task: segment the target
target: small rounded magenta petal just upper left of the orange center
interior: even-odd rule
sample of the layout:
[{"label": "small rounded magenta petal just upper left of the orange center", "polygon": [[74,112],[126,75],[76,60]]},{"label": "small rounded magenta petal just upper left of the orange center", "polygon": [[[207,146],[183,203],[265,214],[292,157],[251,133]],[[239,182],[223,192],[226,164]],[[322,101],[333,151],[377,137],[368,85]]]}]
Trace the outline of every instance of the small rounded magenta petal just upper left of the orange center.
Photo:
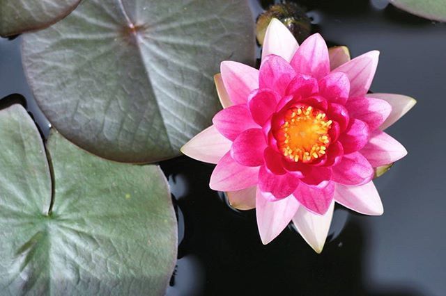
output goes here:
[{"label": "small rounded magenta petal just upper left of the orange center", "polygon": [[274,112],[280,97],[274,90],[254,90],[249,95],[248,106],[254,122],[263,126]]}]

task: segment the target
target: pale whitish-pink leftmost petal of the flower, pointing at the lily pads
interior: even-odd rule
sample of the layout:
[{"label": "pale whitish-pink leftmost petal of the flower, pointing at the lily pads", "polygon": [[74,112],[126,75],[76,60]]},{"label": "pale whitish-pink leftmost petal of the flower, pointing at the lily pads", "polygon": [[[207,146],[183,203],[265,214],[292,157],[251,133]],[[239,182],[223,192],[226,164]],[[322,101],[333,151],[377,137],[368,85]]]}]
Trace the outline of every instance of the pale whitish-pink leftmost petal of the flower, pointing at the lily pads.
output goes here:
[{"label": "pale whitish-pink leftmost petal of the flower, pointing at the lily pads", "polygon": [[231,141],[209,126],[181,147],[183,154],[205,163],[218,163],[231,149]]}]

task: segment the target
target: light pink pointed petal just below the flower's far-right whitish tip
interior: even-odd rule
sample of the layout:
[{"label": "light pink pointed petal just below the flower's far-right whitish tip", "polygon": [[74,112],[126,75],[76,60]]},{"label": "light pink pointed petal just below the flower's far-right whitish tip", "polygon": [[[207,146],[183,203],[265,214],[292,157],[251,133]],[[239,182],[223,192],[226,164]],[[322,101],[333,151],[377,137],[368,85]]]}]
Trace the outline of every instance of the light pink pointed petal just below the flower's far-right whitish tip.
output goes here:
[{"label": "light pink pointed petal just below the flower's far-right whitish tip", "polygon": [[376,130],[371,133],[367,145],[360,151],[372,167],[389,165],[406,156],[406,148],[397,140],[383,131]]}]

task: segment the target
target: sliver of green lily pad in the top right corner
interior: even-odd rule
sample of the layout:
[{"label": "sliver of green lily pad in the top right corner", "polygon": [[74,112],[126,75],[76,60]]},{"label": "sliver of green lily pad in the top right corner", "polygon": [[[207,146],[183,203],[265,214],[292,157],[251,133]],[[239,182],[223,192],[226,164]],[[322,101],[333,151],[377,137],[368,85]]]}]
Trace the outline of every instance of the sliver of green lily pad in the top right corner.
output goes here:
[{"label": "sliver of green lily pad in the top right corner", "polygon": [[445,0],[390,0],[390,3],[413,15],[446,22]]}]

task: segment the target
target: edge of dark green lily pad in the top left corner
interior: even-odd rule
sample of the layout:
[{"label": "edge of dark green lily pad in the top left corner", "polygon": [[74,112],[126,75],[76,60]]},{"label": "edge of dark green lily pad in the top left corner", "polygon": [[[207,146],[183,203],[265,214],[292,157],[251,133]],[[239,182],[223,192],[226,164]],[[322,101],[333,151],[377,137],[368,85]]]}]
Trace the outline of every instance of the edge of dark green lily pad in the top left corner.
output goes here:
[{"label": "edge of dark green lily pad in the top left corner", "polygon": [[46,28],[66,17],[81,0],[0,0],[0,36]]}]

